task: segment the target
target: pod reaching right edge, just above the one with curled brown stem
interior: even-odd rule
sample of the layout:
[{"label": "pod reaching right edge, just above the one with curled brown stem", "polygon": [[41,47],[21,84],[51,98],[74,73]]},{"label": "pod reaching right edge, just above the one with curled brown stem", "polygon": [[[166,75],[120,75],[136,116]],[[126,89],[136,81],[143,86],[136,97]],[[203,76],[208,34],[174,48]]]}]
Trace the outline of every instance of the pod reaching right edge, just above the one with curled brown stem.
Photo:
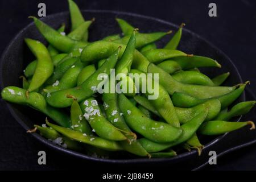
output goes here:
[{"label": "pod reaching right edge, just above the one with curled brown stem", "polygon": [[218,114],[214,120],[229,121],[230,118],[249,113],[255,103],[256,101],[240,102],[237,105],[234,105],[230,111]]}]

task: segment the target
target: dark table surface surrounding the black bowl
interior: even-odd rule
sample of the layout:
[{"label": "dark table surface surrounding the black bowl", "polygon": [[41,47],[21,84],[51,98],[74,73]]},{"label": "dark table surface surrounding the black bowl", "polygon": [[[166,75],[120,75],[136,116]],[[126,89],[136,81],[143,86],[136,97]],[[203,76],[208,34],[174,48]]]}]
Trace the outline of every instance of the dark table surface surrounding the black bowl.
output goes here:
[{"label": "dark table surface surrounding the black bowl", "polygon": [[[29,15],[37,15],[38,3],[44,2],[47,15],[68,11],[67,1],[0,1],[0,54],[18,31],[31,22]],[[130,0],[76,1],[81,9],[115,10],[154,16],[175,24],[186,23],[186,28],[203,36],[230,57],[243,81],[250,80],[249,89],[256,92],[256,2],[254,0],[214,1],[217,17],[208,16],[211,1]],[[247,97],[248,98],[248,97]],[[255,110],[254,110],[255,113]],[[250,113],[254,115],[255,114]],[[30,137],[0,101],[0,169],[43,170],[74,169],[77,159],[52,151]],[[47,165],[38,165],[38,151],[47,153]],[[230,152],[218,158],[209,170],[255,170],[256,144]]]}]

